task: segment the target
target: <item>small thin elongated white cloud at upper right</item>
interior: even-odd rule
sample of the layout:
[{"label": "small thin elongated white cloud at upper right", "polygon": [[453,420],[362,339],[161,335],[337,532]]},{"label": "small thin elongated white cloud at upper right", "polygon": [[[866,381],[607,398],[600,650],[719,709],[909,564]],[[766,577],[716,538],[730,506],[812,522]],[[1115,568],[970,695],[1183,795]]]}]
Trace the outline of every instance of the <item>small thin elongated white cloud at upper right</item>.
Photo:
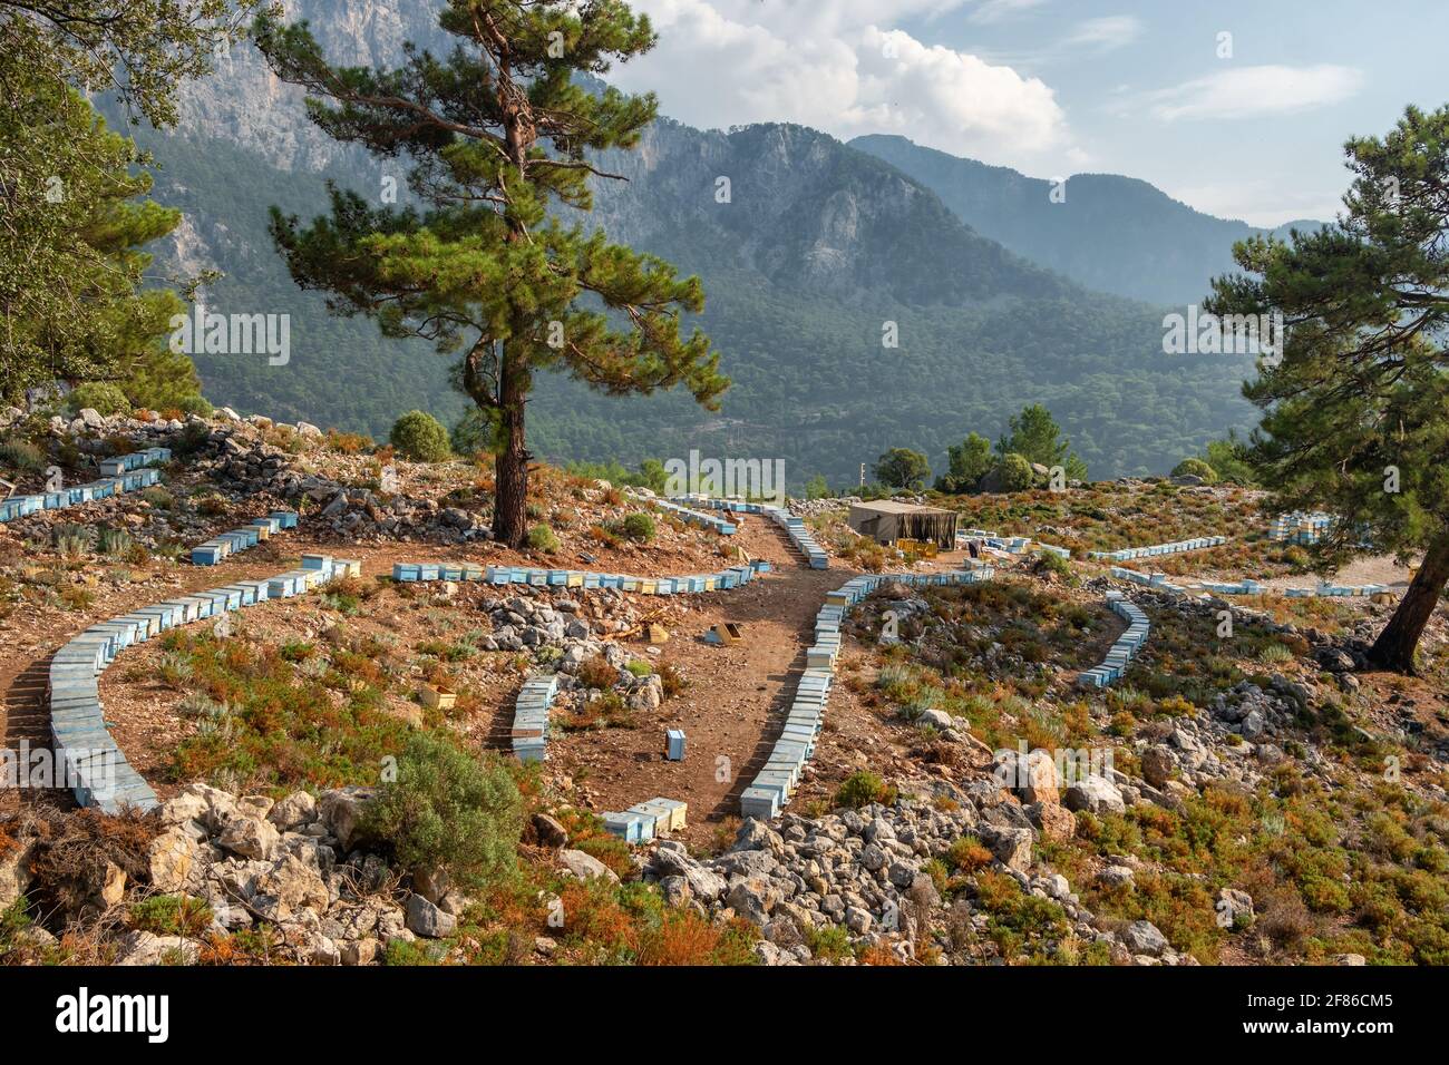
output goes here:
[{"label": "small thin elongated white cloud at upper right", "polygon": [[1353,67],[1229,67],[1145,99],[1153,117],[1250,119],[1291,114],[1348,100],[1364,84]]}]

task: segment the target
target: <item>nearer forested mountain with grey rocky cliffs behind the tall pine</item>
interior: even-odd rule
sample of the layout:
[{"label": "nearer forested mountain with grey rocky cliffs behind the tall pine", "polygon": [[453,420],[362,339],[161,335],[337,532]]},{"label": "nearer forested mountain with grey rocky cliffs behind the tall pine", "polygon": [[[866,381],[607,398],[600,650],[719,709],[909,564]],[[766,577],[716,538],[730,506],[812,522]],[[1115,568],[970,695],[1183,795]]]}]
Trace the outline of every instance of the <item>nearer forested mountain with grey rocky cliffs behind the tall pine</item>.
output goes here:
[{"label": "nearer forested mountain with grey rocky cliffs behind the tall pine", "polygon": [[[419,17],[355,0],[304,0],[323,46],[388,62]],[[346,49],[346,51],[343,51]],[[271,246],[270,204],[307,217],[323,181],[377,196],[404,171],[322,138],[298,94],[238,48],[226,70],[184,91],[180,130],[139,130],[161,170],[154,191],[185,223],[168,270],[220,270],[209,310],[291,316],[291,359],[199,356],[207,396],[242,410],[385,435],[403,410],[464,409],[448,361],[384,341],[365,319],[329,316]],[[717,414],[674,393],[609,398],[545,377],[530,404],[538,454],[638,462],[781,458],[800,485],[849,484],[888,446],[943,467],[968,430],[998,435],[1023,404],[1046,403],[1097,477],[1161,472],[1229,426],[1250,422],[1246,359],[1162,355],[1162,312],[1093,293],[965,225],[922,181],[813,129],[730,132],[658,120],[635,152],[606,154],[588,225],[697,272],[698,325],[735,385]],[[722,181],[727,180],[727,185]],[[727,197],[723,191],[727,187]],[[894,330],[898,346],[882,338]]]}]

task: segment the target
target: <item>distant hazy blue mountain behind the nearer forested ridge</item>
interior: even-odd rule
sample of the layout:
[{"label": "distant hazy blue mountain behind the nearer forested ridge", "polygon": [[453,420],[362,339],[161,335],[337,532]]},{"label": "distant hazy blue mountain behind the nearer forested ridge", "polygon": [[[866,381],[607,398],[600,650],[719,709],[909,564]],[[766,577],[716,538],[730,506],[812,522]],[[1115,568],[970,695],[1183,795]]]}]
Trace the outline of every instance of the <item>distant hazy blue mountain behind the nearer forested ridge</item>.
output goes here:
[{"label": "distant hazy blue mountain behind the nearer forested ridge", "polygon": [[984,236],[1078,284],[1168,306],[1201,303],[1208,281],[1237,272],[1233,243],[1255,233],[1287,238],[1323,222],[1253,229],[1193,210],[1146,181],[1075,174],[1053,203],[1052,183],[923,148],[903,136],[868,135],[852,148],[890,162],[936,193]]}]

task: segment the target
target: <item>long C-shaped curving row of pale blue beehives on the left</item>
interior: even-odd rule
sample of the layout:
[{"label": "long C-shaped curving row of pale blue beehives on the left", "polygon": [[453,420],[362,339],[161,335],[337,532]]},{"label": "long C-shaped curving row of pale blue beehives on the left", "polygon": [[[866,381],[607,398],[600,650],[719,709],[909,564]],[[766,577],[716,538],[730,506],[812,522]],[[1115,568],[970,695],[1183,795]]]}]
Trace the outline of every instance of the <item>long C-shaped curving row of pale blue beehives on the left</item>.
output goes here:
[{"label": "long C-shaped curving row of pale blue beehives on the left", "polygon": [[167,629],[206,617],[285,598],[333,577],[358,575],[358,562],[327,555],[303,555],[303,568],[258,581],[238,581],[175,600],[141,607],[129,614],[93,625],[55,652],[51,659],[49,709],[55,755],[65,767],[75,801],[116,813],[123,806],[149,810],[155,791],[116,746],[100,703],[100,674],[116,655]]}]

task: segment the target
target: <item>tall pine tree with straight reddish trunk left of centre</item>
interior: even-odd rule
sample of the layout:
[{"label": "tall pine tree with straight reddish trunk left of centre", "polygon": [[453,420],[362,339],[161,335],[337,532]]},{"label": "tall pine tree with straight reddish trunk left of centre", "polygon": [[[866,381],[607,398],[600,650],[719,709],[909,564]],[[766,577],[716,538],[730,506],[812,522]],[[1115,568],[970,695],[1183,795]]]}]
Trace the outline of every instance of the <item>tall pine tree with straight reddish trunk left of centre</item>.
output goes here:
[{"label": "tall pine tree with straight reddish trunk left of centre", "polygon": [[554,206],[588,210],[591,154],[627,149],[653,120],[652,94],[590,94],[574,75],[648,51],[655,35],[622,0],[449,0],[445,57],[409,45],[396,70],[330,65],[306,23],[258,19],[258,46],[303,85],[330,136],[406,156],[412,207],[372,207],[332,190],[332,214],[301,226],[272,214],[293,278],[333,310],[372,316],[388,336],[459,354],[456,380],[494,433],[494,536],[526,535],[525,412],[538,371],[609,394],[685,385],[716,409],[729,381],[709,338],[680,335],[703,309],[698,278],[564,226]]}]

